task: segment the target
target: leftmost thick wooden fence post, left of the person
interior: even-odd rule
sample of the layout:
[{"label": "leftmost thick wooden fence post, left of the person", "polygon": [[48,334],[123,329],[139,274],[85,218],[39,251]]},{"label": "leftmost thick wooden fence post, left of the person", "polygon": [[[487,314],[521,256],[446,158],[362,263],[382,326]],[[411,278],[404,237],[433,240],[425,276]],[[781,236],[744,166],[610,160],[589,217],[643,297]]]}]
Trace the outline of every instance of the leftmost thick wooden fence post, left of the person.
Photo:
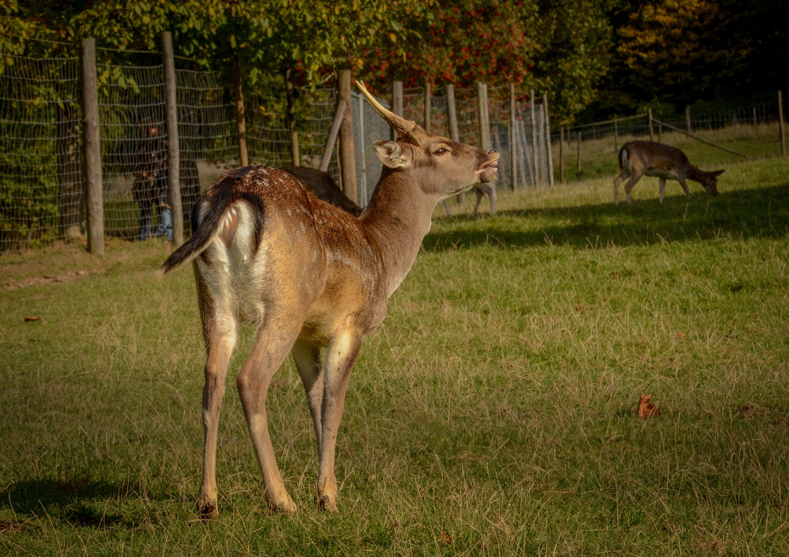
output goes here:
[{"label": "leftmost thick wooden fence post, left of the person", "polygon": [[82,39],[82,132],[85,203],[88,214],[88,251],[104,255],[104,202],[99,145],[99,92],[95,39]]}]

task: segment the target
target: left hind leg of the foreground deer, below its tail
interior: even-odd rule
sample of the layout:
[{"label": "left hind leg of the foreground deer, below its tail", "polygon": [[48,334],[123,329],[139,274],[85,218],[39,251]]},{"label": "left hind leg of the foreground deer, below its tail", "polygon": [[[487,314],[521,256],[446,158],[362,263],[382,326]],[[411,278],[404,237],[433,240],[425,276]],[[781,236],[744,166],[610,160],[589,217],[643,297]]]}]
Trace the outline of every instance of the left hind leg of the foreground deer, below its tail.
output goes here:
[{"label": "left hind leg of the foreground deer, below its tail", "polygon": [[[219,318],[218,318],[219,317]],[[211,316],[206,338],[208,359],[205,362],[203,388],[203,482],[197,496],[200,518],[217,518],[219,506],[216,489],[216,437],[222,396],[225,394],[225,377],[230,355],[236,343],[237,325],[232,314]]]}]

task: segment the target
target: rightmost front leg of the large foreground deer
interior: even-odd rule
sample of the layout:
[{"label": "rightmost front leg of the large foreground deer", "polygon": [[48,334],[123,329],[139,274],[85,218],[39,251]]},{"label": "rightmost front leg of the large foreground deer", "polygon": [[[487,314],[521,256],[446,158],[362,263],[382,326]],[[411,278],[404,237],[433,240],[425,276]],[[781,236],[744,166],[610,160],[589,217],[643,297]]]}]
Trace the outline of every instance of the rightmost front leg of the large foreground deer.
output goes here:
[{"label": "rightmost front leg of the large foreground deer", "polygon": [[323,366],[323,401],[320,409],[319,470],[316,502],[327,511],[337,511],[335,447],[345,405],[348,377],[361,347],[361,336],[347,331],[335,337],[327,347]]}]

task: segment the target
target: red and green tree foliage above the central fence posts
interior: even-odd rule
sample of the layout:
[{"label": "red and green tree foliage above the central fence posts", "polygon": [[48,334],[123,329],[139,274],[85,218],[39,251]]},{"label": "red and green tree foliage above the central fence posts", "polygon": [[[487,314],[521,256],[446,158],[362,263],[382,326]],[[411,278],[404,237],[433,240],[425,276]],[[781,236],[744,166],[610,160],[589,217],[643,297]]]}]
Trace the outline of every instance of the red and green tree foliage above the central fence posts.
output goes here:
[{"label": "red and green tree foliage above the central fence posts", "polygon": [[555,114],[567,120],[593,98],[607,68],[611,31],[596,0],[466,0],[434,13],[407,22],[422,39],[406,46],[404,59],[377,45],[365,53],[363,73],[380,87],[393,79],[406,87],[514,83],[520,96],[548,91]]}]

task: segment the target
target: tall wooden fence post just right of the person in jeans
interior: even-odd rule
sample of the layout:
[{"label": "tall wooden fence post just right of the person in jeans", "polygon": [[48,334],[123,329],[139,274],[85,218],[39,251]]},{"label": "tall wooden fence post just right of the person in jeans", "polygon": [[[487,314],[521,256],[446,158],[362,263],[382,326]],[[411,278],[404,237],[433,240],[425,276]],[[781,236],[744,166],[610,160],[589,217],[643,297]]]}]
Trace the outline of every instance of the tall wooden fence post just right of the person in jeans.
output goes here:
[{"label": "tall wooden fence post just right of the person in jeans", "polygon": [[175,80],[175,57],[173,36],[169,31],[162,33],[164,53],[164,95],[166,98],[167,123],[167,185],[170,189],[170,207],[173,215],[173,243],[175,247],[184,243],[184,207],[181,204],[181,151],[178,148],[178,98]]}]

